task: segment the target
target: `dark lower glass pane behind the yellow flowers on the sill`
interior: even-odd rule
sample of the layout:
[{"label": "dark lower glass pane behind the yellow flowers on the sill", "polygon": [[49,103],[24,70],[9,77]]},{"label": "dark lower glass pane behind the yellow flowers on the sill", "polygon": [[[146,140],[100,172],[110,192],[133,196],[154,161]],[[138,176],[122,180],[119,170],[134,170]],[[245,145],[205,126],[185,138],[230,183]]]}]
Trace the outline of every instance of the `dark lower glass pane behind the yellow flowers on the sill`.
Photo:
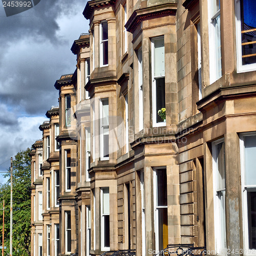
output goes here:
[{"label": "dark lower glass pane behind the yellow flowers on the sill", "polygon": [[158,111],[162,108],[165,108],[165,78],[156,78],[156,117],[157,117],[157,123],[163,122],[164,119],[162,119],[158,115]]}]

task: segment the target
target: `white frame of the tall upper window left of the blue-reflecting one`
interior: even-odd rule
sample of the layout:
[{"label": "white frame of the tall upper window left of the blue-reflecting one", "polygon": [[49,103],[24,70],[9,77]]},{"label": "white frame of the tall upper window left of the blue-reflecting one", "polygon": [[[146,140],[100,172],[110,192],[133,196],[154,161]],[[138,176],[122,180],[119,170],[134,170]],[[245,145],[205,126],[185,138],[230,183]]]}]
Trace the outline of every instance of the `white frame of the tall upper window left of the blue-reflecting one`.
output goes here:
[{"label": "white frame of the tall upper window left of the blue-reflecting one", "polygon": [[[217,28],[214,25],[214,20],[220,17],[221,9],[216,13],[212,13],[215,0],[208,0],[208,30],[209,30],[209,67],[210,67],[210,84],[217,81],[222,74],[217,74],[217,46],[216,46],[216,31]],[[221,20],[220,20],[221,22]],[[221,31],[220,31],[221,34]],[[220,35],[221,37],[221,35]],[[220,69],[222,71],[222,63],[220,62]],[[222,72],[221,72],[222,73]]]}]

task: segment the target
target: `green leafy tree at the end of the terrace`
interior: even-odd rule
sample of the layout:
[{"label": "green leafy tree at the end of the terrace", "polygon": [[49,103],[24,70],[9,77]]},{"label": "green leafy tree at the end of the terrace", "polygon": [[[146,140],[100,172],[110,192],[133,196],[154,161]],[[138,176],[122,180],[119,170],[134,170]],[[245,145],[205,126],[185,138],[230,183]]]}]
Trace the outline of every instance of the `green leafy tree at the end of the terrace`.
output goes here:
[{"label": "green leafy tree at the end of the terrace", "polygon": [[[31,157],[30,149],[20,151],[13,160],[13,256],[30,256],[31,221]],[[10,169],[9,169],[10,170]],[[5,255],[10,248],[10,173],[8,182],[0,186],[0,208],[5,200]],[[2,244],[3,210],[0,210],[0,244]]]}]

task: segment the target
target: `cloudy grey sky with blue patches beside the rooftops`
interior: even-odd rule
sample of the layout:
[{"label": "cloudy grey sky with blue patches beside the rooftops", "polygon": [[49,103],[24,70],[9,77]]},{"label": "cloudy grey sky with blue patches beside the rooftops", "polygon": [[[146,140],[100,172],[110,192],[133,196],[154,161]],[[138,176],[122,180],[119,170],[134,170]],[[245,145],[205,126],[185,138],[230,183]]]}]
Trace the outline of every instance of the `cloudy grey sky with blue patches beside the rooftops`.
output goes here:
[{"label": "cloudy grey sky with blue patches beside the rooftops", "polygon": [[[87,33],[87,0],[41,0],[6,17],[0,3],[0,171],[9,159],[41,139],[38,126],[58,105],[54,83],[75,71],[74,40]],[[2,178],[0,176],[0,182]]]}]

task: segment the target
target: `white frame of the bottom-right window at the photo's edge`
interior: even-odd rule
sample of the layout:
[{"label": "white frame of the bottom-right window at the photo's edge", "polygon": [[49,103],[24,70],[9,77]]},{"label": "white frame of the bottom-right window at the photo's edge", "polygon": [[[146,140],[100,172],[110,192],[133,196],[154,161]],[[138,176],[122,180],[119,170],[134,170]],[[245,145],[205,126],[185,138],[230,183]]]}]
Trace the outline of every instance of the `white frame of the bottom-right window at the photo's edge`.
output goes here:
[{"label": "white frame of the bottom-right window at the photo's edge", "polygon": [[244,255],[256,255],[255,249],[249,249],[249,230],[248,230],[248,205],[247,189],[255,188],[255,185],[245,185],[245,147],[244,138],[247,136],[256,136],[256,132],[240,134],[240,162],[241,162],[241,188],[242,188],[242,211],[243,211],[243,244]]}]

